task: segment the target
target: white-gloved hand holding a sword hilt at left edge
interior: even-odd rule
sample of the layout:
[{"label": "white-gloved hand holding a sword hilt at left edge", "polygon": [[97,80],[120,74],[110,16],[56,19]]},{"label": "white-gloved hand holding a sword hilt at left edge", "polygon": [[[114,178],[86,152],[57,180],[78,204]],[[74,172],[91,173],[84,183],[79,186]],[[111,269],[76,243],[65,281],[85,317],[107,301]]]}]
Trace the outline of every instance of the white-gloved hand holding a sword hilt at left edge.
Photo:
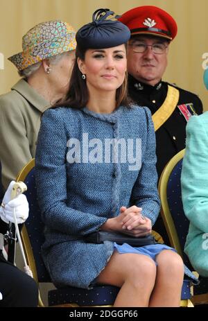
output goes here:
[{"label": "white-gloved hand holding a sword hilt at left edge", "polygon": [[29,206],[26,196],[19,194],[13,200],[10,200],[12,193],[12,186],[15,184],[15,181],[10,182],[8,189],[3,197],[3,207],[0,209],[1,220],[5,223],[12,222],[14,223],[13,209],[15,208],[15,214],[17,218],[17,224],[24,223],[28,218]]}]

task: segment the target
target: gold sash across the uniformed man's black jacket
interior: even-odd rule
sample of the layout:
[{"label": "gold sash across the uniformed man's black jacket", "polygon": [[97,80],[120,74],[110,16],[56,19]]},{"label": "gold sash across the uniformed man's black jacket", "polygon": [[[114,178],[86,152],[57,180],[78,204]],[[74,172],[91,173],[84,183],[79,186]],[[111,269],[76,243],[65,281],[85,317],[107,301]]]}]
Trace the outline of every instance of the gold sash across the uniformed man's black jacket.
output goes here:
[{"label": "gold sash across the uniformed man's black jacket", "polygon": [[153,114],[153,123],[155,126],[155,132],[166,122],[166,120],[173,114],[175,107],[179,101],[179,90],[175,87],[168,85],[168,93],[166,100],[159,107],[159,110]]}]

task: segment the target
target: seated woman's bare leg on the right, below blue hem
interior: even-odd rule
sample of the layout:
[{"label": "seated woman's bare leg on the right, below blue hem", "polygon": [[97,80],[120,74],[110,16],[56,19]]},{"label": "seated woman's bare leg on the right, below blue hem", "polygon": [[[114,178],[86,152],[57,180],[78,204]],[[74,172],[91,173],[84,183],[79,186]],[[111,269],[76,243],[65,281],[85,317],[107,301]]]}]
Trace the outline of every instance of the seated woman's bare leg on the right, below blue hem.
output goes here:
[{"label": "seated woman's bare leg on the right, below blue hem", "polygon": [[157,277],[150,306],[180,306],[184,277],[181,257],[171,250],[163,250],[157,255],[156,261]]}]

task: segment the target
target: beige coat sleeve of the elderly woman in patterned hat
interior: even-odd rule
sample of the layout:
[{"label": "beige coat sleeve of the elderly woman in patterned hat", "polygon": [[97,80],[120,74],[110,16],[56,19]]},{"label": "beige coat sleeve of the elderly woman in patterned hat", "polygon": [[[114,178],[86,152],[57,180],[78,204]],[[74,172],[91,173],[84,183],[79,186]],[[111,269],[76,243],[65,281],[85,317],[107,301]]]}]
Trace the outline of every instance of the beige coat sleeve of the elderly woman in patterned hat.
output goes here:
[{"label": "beige coat sleeve of the elderly woman in patterned hat", "polygon": [[0,150],[2,183],[5,189],[32,158],[24,116],[18,107],[18,100],[12,99],[15,98],[14,95],[10,96],[0,98]]}]

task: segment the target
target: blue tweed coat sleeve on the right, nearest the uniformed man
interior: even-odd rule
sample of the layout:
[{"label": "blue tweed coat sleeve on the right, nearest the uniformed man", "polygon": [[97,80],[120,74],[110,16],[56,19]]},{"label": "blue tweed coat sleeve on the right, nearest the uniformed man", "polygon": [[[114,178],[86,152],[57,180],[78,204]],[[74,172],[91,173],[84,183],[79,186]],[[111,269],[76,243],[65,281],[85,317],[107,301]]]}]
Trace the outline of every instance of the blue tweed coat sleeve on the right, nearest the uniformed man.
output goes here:
[{"label": "blue tweed coat sleeve on the right, nearest the uniformed man", "polygon": [[147,216],[154,225],[159,214],[159,195],[157,191],[157,170],[156,170],[156,142],[155,130],[150,110],[145,108],[146,112],[146,148],[142,150],[141,169],[132,189],[131,203],[142,207],[144,216]]}]

